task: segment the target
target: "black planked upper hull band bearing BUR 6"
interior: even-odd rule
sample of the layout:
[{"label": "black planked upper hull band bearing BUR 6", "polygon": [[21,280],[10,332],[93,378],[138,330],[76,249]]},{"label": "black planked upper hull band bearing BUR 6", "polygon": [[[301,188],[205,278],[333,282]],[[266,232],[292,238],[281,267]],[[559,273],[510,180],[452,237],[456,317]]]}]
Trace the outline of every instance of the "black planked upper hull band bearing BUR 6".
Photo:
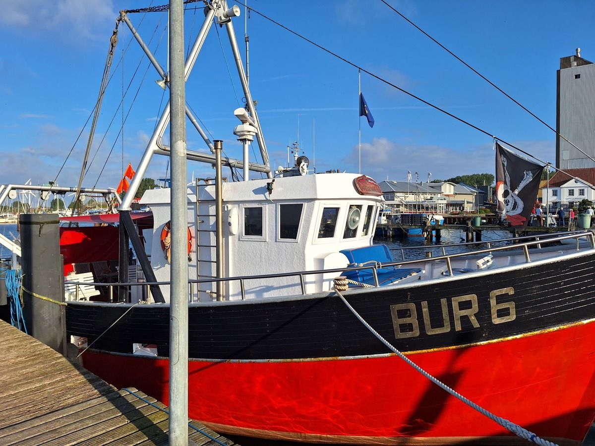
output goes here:
[{"label": "black planked upper hull band bearing BUR 6", "polygon": [[[595,255],[463,274],[404,288],[369,288],[346,299],[401,351],[482,343],[595,318]],[[392,308],[393,306],[393,308]],[[396,307],[395,307],[396,306]],[[169,353],[169,306],[68,303],[69,335],[92,348]],[[425,317],[424,317],[425,316]],[[416,328],[417,327],[417,328]],[[416,331],[417,329],[417,331]],[[334,293],[296,299],[191,304],[189,356],[275,360],[389,353]],[[99,337],[99,338],[98,338]]]}]

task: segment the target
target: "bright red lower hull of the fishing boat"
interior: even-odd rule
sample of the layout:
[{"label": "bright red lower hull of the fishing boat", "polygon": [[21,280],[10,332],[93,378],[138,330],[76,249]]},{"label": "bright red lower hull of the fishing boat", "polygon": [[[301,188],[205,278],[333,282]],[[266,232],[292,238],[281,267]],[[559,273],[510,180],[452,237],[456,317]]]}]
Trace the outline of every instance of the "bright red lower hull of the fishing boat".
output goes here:
[{"label": "bright red lower hull of the fishing boat", "polygon": [[[558,444],[580,444],[595,413],[595,322],[424,351],[419,366],[490,412]],[[169,362],[87,351],[116,387],[168,403]],[[395,356],[189,362],[189,415],[228,434],[359,444],[526,444]],[[494,438],[498,437],[498,438]]]}]

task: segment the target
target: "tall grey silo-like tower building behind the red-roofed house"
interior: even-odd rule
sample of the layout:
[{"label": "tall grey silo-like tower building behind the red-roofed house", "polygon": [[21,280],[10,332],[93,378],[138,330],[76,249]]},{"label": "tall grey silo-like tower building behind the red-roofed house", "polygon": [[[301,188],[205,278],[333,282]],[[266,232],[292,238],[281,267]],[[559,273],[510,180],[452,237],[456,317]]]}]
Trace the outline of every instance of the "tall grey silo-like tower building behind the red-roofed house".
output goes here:
[{"label": "tall grey silo-like tower building behind the red-roofed house", "polygon": [[[556,130],[595,158],[595,64],[577,55],[560,58]],[[568,142],[556,138],[556,167],[582,169],[595,162]]]}]

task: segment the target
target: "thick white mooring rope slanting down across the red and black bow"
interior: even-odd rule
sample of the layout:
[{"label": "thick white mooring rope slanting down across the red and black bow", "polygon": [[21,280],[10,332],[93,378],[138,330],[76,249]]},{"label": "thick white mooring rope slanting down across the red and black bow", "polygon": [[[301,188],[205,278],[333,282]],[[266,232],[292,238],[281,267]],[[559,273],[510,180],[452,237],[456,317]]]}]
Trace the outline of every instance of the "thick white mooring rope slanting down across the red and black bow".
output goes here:
[{"label": "thick white mooring rope slanting down across the red and black bow", "polygon": [[384,339],[380,333],[378,333],[377,331],[375,331],[374,328],[372,328],[371,325],[369,325],[368,322],[366,322],[364,320],[364,318],[362,318],[361,315],[359,315],[358,312],[356,312],[356,310],[349,304],[349,302],[347,302],[347,300],[345,299],[345,297],[343,297],[343,294],[341,293],[341,291],[346,291],[347,290],[347,281],[348,279],[345,277],[337,277],[336,279],[334,279],[334,291],[337,293],[337,296],[340,297],[340,299],[343,301],[343,303],[345,303],[345,305],[347,306],[347,308],[349,308],[349,310],[351,310],[351,312],[353,313],[353,315],[355,315],[356,318],[359,319],[359,321],[361,323],[364,324],[364,326],[372,332],[372,334],[378,338],[378,340],[381,341],[381,343],[383,343],[385,346],[389,347],[390,350],[392,350],[397,356],[400,357],[400,359],[402,359],[403,361],[405,361],[406,363],[408,363],[412,368],[414,368],[415,370],[417,370],[419,373],[421,373],[422,375],[424,375],[426,378],[430,379],[431,382],[433,382],[434,384],[436,384],[438,387],[442,388],[443,390],[449,392],[449,394],[453,395],[453,397],[457,398],[459,401],[462,401],[463,403],[465,403],[467,406],[471,407],[472,409],[477,410],[477,412],[483,414],[484,416],[488,417],[490,420],[493,420],[494,422],[498,423],[500,426],[502,426],[505,429],[508,429],[508,431],[511,431],[513,434],[516,434],[518,436],[520,436],[521,438],[524,438],[528,441],[531,441],[535,444],[541,445],[541,446],[558,446],[556,443],[553,443],[551,441],[548,441],[546,439],[540,438],[538,437],[536,434],[533,434],[533,432],[527,431],[527,429],[522,428],[519,425],[516,425],[515,423],[506,420],[502,417],[499,417],[491,412],[489,412],[488,410],[484,409],[481,406],[478,406],[477,404],[475,404],[473,401],[469,400],[468,398],[465,398],[463,395],[459,394],[458,392],[456,392],[455,390],[453,390],[452,388],[448,387],[446,384],[444,384],[443,382],[439,381],[439,379],[435,378],[434,376],[430,375],[430,373],[426,372],[424,369],[422,369],[421,367],[419,367],[416,363],[414,363],[411,359],[409,359],[408,357],[406,357],[403,353],[401,353],[399,350],[397,350],[396,348],[394,348],[392,346],[392,344],[389,343],[389,341],[387,341],[386,339]]}]

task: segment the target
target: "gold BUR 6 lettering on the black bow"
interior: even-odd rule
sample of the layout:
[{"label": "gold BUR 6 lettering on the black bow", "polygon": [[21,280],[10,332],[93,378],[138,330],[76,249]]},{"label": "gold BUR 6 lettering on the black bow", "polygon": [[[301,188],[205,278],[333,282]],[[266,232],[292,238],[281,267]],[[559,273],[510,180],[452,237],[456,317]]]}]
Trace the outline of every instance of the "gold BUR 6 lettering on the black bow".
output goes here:
[{"label": "gold BUR 6 lettering on the black bow", "polygon": [[[497,297],[506,294],[512,296],[515,290],[512,287],[500,288],[490,291],[490,321],[491,323],[511,322],[516,319],[515,303],[513,301],[497,302]],[[435,305],[435,303],[433,303]],[[450,307],[449,307],[450,304]],[[418,317],[418,307],[421,309],[421,318]],[[462,331],[465,326],[480,328],[477,318],[479,304],[476,294],[464,294],[449,299],[440,299],[442,325],[432,326],[430,322],[430,306],[427,300],[420,303],[407,302],[390,306],[390,315],[393,319],[394,337],[397,339],[415,338],[420,334],[420,326],[425,334],[437,335],[449,332],[451,329]],[[452,314],[452,321],[450,315]]]}]

